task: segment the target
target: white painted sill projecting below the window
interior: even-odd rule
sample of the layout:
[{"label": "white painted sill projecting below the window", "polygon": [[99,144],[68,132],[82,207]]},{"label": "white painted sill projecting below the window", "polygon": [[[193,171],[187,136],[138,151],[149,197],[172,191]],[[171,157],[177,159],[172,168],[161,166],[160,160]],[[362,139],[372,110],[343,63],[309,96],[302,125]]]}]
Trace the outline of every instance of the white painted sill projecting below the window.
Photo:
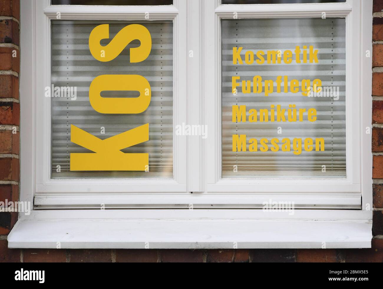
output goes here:
[{"label": "white painted sill projecting below the window", "polygon": [[372,211],[356,210],[33,211],[11,230],[8,247],[371,248],[371,230]]}]

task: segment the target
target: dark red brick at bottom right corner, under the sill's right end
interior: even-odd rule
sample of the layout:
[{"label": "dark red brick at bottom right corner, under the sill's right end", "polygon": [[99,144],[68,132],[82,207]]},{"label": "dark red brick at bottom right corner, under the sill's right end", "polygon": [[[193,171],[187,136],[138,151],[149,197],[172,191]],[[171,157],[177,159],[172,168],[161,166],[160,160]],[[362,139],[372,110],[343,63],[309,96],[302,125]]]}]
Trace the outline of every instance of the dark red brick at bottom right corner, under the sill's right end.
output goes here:
[{"label": "dark red brick at bottom right corner, under the sill's right end", "polygon": [[383,262],[383,240],[372,239],[371,248],[368,249],[338,249],[337,251],[345,262]]}]

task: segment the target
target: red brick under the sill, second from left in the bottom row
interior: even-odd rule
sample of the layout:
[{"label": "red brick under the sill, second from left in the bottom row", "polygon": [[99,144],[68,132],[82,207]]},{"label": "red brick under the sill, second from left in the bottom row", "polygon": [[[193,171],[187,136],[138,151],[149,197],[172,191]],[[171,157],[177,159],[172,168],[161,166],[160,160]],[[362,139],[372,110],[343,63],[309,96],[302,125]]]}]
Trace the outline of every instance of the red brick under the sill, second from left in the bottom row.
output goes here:
[{"label": "red brick under the sill, second from left in the bottom row", "polygon": [[67,261],[67,254],[65,249],[24,249],[23,261],[25,263],[62,263]]}]

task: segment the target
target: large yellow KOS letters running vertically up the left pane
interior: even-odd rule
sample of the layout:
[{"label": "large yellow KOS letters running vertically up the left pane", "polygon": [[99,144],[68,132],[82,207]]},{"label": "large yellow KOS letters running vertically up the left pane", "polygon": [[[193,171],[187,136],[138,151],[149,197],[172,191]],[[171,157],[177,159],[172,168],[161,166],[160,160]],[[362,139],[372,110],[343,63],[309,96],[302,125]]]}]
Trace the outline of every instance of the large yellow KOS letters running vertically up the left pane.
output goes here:
[{"label": "large yellow KOS letters running vertically up the left pane", "polygon": [[[109,24],[95,27],[89,36],[89,49],[95,59],[108,62],[115,59],[131,41],[138,39],[139,47],[130,49],[130,62],[144,61],[150,54],[152,38],[149,30],[139,24],[121,29],[106,46],[102,39],[109,38]],[[135,98],[104,98],[101,91],[139,91]],[[151,87],[141,75],[100,75],[89,87],[92,108],[103,114],[138,114],[144,112],[151,101]],[[145,171],[149,166],[149,153],[123,153],[122,149],[149,140],[149,124],[136,127],[108,139],[98,137],[71,125],[70,140],[94,153],[71,153],[71,171]]]}]

